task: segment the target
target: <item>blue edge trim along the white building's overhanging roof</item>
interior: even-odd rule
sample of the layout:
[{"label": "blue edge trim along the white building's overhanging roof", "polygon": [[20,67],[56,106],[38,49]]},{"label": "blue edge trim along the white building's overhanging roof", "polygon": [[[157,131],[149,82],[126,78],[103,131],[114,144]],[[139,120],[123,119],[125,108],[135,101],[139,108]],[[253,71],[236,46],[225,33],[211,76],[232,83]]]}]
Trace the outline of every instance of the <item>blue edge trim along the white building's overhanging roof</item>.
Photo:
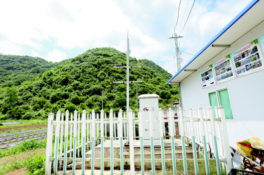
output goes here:
[{"label": "blue edge trim along the white building's overhanging roof", "polygon": [[237,22],[247,11],[249,11],[258,1],[252,0],[234,19],[232,19],[205,47],[200,50],[192,59],[190,59],[166,84],[175,78],[182,70],[184,70],[194,59],[201,55],[211,44],[213,44],[221,35],[223,35],[235,22]]}]

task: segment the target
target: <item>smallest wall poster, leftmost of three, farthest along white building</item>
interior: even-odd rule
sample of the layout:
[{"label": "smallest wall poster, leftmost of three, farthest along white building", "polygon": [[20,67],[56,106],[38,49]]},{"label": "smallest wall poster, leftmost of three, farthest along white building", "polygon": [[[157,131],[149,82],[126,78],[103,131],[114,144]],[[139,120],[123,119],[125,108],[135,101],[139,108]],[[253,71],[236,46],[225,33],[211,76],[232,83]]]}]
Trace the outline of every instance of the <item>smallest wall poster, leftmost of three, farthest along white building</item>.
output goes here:
[{"label": "smallest wall poster, leftmost of three, farthest along white building", "polygon": [[213,74],[213,66],[212,64],[208,67],[204,68],[200,71],[201,79],[202,79],[202,88],[207,88],[216,84],[214,74]]}]

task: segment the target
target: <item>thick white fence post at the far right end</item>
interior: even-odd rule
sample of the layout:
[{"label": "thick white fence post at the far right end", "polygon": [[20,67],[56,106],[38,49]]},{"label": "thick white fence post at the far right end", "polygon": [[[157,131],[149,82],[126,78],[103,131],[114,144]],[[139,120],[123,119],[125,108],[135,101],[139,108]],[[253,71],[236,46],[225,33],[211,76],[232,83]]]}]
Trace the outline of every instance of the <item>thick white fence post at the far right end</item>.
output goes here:
[{"label": "thick white fence post at the far right end", "polygon": [[228,133],[227,133],[227,123],[226,123],[226,117],[225,117],[225,111],[224,107],[219,106],[219,115],[221,117],[221,125],[223,129],[223,147],[224,147],[224,154],[227,158],[227,174],[231,171],[233,165],[232,165],[232,160],[231,160],[231,154],[229,152],[229,139],[228,139]]}]

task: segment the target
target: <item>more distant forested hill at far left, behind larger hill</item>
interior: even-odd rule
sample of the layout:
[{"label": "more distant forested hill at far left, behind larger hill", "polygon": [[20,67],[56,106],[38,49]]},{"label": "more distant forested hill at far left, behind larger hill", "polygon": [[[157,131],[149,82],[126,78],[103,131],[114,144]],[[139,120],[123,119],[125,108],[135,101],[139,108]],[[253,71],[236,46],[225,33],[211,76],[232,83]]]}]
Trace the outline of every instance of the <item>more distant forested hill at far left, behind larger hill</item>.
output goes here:
[{"label": "more distant forested hill at far left, behind larger hill", "polygon": [[17,86],[59,63],[28,56],[0,55],[0,86]]}]

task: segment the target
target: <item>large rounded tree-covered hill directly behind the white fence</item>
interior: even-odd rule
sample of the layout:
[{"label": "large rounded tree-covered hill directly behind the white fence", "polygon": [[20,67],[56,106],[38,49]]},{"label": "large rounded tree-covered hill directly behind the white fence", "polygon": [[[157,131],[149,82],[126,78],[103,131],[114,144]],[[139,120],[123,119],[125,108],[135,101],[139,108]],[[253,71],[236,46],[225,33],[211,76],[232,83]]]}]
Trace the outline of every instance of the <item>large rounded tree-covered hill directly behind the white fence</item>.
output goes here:
[{"label": "large rounded tree-covered hill directly behind the white fence", "polygon": [[[31,67],[27,71],[36,67],[51,69],[12,87],[0,84],[0,118],[46,118],[48,113],[58,110],[100,112],[102,90],[106,112],[126,110],[126,84],[114,83],[126,81],[126,69],[114,68],[115,64],[126,65],[126,54],[113,48],[96,48],[53,68],[43,64]],[[136,58],[130,58],[130,65],[138,65]],[[171,74],[147,59],[142,60],[141,68],[131,68],[130,81],[142,83],[130,83],[130,108],[136,111],[136,91],[138,96],[159,95],[159,106],[163,109],[178,101],[178,87],[165,84],[170,77]]]}]

